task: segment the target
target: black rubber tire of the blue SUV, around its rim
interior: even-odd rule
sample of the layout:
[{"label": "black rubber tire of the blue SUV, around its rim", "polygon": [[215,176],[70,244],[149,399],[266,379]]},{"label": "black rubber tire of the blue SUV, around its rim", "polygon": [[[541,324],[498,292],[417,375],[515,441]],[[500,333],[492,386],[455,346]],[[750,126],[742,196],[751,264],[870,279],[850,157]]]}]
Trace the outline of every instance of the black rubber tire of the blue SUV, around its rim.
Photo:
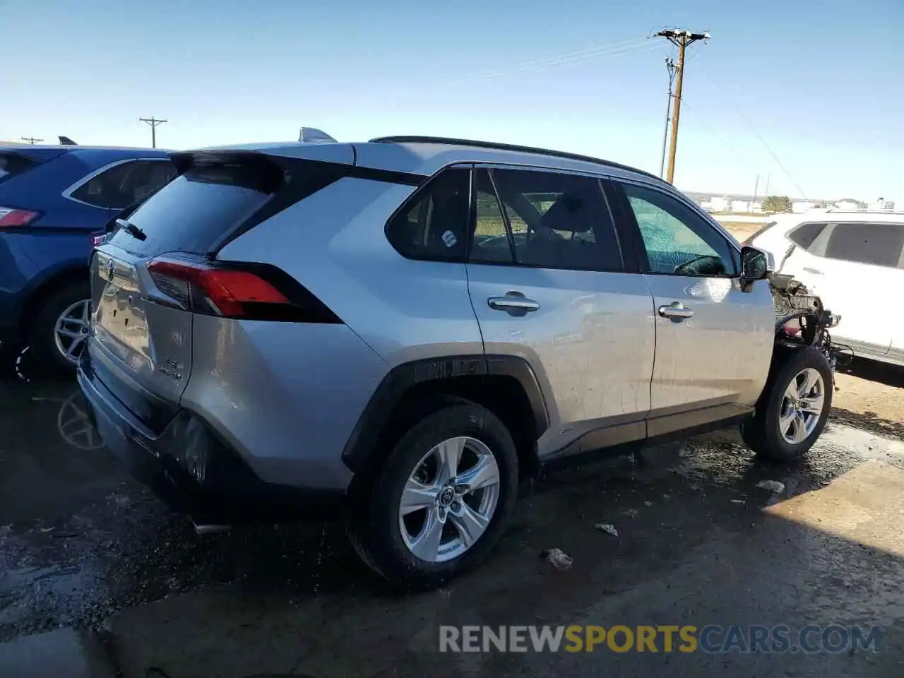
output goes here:
[{"label": "black rubber tire of the blue SUV, around its rim", "polygon": [[[73,306],[80,302],[89,302],[91,290],[87,280],[77,283],[69,283],[63,287],[58,287],[46,297],[43,297],[40,306],[33,311],[32,320],[27,328],[28,343],[32,347],[35,362],[37,364],[52,368],[54,372],[61,374],[73,374],[75,372],[76,363],[68,360],[61,349],[57,347],[56,342],[56,325],[60,316]],[[68,325],[71,331],[80,331],[78,325]],[[85,340],[77,342],[80,347],[87,344],[87,326],[84,336]],[[70,339],[70,337],[66,337]],[[69,344],[62,344],[63,348],[68,348]],[[78,358],[80,347],[77,347],[72,354]]]}]

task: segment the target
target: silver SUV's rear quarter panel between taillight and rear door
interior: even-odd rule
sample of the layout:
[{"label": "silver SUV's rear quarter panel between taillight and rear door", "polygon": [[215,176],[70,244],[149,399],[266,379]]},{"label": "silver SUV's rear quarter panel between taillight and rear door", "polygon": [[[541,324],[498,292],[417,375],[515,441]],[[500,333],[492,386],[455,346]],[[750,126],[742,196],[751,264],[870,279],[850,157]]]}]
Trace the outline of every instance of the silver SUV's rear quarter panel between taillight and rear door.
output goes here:
[{"label": "silver SUV's rear quarter panel between taillight and rear door", "polygon": [[386,221],[413,191],[340,179],[234,240],[219,258],[282,268],[390,367],[483,354],[465,265],[405,259],[386,240]]}]

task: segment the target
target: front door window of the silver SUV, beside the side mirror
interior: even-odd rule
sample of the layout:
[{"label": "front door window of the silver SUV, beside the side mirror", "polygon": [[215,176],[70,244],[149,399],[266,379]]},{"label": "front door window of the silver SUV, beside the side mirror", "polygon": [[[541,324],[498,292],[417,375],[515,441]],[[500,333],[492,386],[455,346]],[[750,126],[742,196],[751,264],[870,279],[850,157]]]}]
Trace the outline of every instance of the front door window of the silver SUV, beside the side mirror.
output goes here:
[{"label": "front door window of the silver SUV, beside the side mirror", "polygon": [[644,241],[650,271],[678,276],[731,276],[728,240],[666,193],[622,184]]}]

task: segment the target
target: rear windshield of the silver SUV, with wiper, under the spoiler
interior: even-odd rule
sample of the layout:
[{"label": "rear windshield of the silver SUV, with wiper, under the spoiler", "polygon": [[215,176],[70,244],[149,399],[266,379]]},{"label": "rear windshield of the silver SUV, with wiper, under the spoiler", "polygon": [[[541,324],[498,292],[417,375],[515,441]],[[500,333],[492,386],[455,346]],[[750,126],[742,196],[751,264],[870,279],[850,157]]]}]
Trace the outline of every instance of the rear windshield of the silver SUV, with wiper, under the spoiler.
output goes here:
[{"label": "rear windshield of the silver SUV, with wiper, under the spoiler", "polygon": [[209,252],[282,184],[282,170],[267,163],[194,165],[128,216],[146,240],[120,229],[110,241],[149,256],[173,250]]}]

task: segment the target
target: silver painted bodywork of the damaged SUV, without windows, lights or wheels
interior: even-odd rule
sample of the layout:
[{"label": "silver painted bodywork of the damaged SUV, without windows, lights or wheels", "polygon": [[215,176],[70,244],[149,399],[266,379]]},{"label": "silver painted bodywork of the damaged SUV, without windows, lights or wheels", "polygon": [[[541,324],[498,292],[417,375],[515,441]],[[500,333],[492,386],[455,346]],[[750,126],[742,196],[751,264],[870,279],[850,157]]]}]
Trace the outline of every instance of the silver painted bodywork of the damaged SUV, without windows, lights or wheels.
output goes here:
[{"label": "silver painted bodywork of the damaged SUV, without windows, lights or wheels", "polygon": [[[556,156],[436,144],[242,150],[423,176],[467,163],[547,167],[654,185],[692,205],[653,178]],[[92,357],[102,353],[140,388],[201,417],[265,482],[328,489],[352,480],[343,450],[381,380],[419,359],[527,361],[551,419],[538,441],[541,457],[599,429],[610,429],[613,443],[645,438],[747,411],[757,400],[773,343],[765,282],[743,293],[728,278],[405,259],[384,225],[414,191],[345,176],[218,252],[222,261],[280,268],[342,325],[239,321],[165,306],[146,261],[102,246],[99,257],[116,259],[124,282],[113,289],[98,278]],[[692,209],[739,250],[709,215]],[[539,307],[517,316],[489,305],[489,297],[510,291]],[[675,301],[693,317],[657,314]],[[113,310],[117,318],[129,314],[135,334],[112,321]],[[167,371],[171,363],[179,379]],[[684,416],[695,411],[702,414]]]}]

